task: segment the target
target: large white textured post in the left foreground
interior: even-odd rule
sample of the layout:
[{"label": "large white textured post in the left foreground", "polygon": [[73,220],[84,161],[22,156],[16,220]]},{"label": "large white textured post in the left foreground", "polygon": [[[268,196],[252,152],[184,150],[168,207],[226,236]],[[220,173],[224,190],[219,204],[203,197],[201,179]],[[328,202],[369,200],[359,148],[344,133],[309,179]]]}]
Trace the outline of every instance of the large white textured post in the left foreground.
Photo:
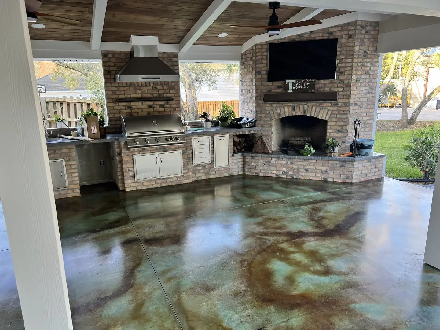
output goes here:
[{"label": "large white textured post in the left foreground", "polygon": [[0,40],[0,196],[23,320],[72,330],[24,0],[0,1]]}]

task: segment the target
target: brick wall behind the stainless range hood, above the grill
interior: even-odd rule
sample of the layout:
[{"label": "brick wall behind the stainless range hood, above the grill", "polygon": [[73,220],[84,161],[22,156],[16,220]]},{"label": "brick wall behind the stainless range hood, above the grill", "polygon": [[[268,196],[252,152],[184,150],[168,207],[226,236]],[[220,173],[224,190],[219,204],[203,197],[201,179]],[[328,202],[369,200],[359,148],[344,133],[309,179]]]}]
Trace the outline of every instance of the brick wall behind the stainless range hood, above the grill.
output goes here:
[{"label": "brick wall behind the stainless range hood, above the grill", "polygon": [[[178,53],[159,52],[158,57],[177,73]],[[114,75],[130,58],[129,51],[102,51],[109,127],[107,132],[121,132],[121,116],[139,114],[180,114],[178,81],[115,82]],[[173,101],[116,103],[117,98],[171,96]]]}]

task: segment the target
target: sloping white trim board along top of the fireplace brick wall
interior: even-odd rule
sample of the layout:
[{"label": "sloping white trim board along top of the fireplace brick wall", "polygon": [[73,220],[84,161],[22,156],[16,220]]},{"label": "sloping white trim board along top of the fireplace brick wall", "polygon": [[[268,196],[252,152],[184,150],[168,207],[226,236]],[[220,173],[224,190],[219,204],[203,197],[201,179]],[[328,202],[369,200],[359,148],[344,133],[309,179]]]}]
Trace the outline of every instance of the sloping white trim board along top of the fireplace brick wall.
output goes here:
[{"label": "sloping white trim board along top of the fireplace brick wall", "polygon": [[[361,16],[363,16],[363,15],[361,15]],[[377,20],[379,19],[379,15],[374,15],[374,16],[377,18]],[[297,35],[300,33],[306,33],[306,32],[315,31],[315,30],[319,30],[319,29],[325,29],[325,28],[328,28],[331,26],[336,26],[339,24],[357,21],[359,19],[360,19],[359,13],[357,13],[357,12],[352,12],[352,13],[339,15],[339,16],[335,16],[335,17],[331,17],[331,18],[326,18],[326,19],[322,20],[322,22],[323,22],[322,24],[297,27],[297,28],[293,29],[290,33],[288,33],[286,35],[282,35],[282,37],[290,37],[290,36],[294,36],[294,35]],[[269,41],[269,40],[276,40],[279,38],[280,38],[280,35],[275,36],[275,37],[269,37],[268,33],[259,34],[257,36],[250,38],[248,41],[246,41],[244,44],[242,44],[242,47],[241,47],[242,52],[248,50],[254,44],[259,44],[261,42],[265,42],[265,41]]]}]

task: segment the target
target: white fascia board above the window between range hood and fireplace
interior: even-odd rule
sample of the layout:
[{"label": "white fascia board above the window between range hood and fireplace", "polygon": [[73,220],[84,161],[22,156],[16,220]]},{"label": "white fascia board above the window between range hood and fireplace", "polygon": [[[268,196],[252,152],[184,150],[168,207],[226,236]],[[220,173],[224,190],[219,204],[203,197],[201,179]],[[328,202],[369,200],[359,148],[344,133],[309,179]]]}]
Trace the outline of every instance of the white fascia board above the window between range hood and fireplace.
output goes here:
[{"label": "white fascia board above the window between range hood and fireplace", "polygon": [[240,46],[193,45],[179,53],[179,60],[185,62],[239,62],[241,57]]}]

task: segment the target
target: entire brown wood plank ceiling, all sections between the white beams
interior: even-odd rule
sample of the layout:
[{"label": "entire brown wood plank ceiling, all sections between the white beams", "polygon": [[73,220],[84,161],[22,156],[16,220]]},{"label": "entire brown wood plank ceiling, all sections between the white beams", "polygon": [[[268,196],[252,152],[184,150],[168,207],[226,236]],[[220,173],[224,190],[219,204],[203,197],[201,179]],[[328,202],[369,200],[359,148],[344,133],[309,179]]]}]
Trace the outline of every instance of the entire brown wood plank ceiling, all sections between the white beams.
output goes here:
[{"label": "entire brown wood plank ceiling, all sections between the white beams", "polygon": [[[179,44],[213,0],[108,0],[102,41],[128,42],[130,36],[158,36],[160,43]],[[303,7],[282,6],[277,9],[280,22],[285,22]],[[45,29],[34,29],[29,23],[31,39],[90,41],[93,0],[43,0],[40,12],[81,21],[78,26],[49,22],[38,23]],[[325,19],[348,13],[326,9],[315,18]],[[267,4],[232,2],[195,44],[241,46],[263,29],[232,28],[231,24],[266,25],[271,10]],[[220,38],[219,33],[228,33]]]}]

